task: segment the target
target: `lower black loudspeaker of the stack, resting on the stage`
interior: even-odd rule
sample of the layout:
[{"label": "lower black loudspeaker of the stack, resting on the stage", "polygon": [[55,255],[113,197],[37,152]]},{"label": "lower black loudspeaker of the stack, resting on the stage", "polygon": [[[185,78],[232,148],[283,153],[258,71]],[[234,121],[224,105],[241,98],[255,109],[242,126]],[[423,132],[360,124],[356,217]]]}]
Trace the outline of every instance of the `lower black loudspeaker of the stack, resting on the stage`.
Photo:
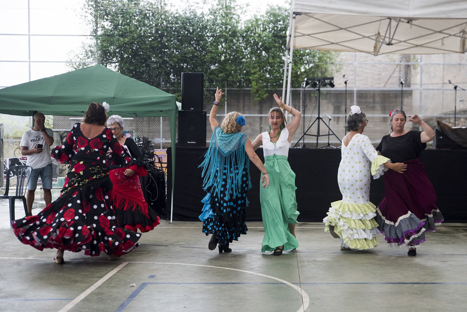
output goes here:
[{"label": "lower black loudspeaker of the stack, resting on the stage", "polygon": [[206,111],[178,111],[179,146],[206,146]]}]

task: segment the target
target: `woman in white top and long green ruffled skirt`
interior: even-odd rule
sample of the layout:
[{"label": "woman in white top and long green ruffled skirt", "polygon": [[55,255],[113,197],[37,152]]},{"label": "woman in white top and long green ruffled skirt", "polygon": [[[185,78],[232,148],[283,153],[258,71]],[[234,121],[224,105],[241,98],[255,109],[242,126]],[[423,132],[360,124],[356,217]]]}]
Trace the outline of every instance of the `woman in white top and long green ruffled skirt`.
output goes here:
[{"label": "woman in white top and long green ruffled skirt", "polygon": [[[279,107],[269,110],[269,131],[258,135],[252,142],[253,148],[263,146],[264,167],[269,174],[269,188],[261,188],[261,214],[264,226],[264,238],[261,251],[273,251],[273,255],[282,255],[283,250],[298,247],[295,238],[295,224],[300,214],[295,200],[295,173],[290,169],[290,142],[300,124],[301,113],[285,105],[282,97],[274,94]],[[283,111],[293,116],[287,125]]]}]

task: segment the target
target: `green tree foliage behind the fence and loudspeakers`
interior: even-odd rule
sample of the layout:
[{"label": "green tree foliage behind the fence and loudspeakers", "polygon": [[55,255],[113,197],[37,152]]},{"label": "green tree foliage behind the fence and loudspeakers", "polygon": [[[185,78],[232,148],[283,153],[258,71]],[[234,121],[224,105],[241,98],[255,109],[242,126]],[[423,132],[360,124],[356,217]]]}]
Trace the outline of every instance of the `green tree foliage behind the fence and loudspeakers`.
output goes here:
[{"label": "green tree foliage behind the fence and loudspeakers", "polygon": [[[177,96],[184,71],[204,72],[205,86],[251,87],[255,99],[282,87],[288,8],[269,7],[245,21],[246,8],[234,0],[210,3],[203,12],[174,11],[163,0],[89,1],[85,12],[90,23],[97,21],[99,64]],[[81,59],[95,58],[92,44],[83,50]],[[335,56],[295,50],[292,86],[332,74]]]}]

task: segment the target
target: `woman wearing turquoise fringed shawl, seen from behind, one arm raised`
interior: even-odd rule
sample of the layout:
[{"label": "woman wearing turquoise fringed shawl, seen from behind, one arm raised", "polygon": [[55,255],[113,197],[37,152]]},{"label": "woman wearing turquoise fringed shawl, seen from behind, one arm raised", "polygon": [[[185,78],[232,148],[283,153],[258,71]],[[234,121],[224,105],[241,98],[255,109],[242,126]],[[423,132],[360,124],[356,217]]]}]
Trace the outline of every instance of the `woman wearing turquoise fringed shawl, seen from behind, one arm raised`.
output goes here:
[{"label": "woman wearing turquoise fringed shawl, seen from behind, one arm raised", "polygon": [[238,112],[230,112],[222,123],[216,120],[222,89],[216,90],[215,101],[209,115],[212,137],[204,161],[203,188],[207,192],[203,212],[203,232],[212,234],[209,250],[219,244],[219,254],[231,252],[229,243],[238,241],[240,234],[247,234],[245,208],[248,206],[247,192],[251,188],[250,160],[262,172],[262,187],[269,186],[268,171],[256,155],[247,135],[241,133],[245,118]]}]

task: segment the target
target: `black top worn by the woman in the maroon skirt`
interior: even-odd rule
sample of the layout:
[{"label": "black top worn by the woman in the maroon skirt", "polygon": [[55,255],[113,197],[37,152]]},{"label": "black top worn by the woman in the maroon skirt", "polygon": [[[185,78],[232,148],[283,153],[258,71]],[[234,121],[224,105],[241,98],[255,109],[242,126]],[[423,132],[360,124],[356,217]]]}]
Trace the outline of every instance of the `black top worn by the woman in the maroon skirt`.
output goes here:
[{"label": "black top worn by the woman in the maroon skirt", "polygon": [[376,150],[380,151],[382,156],[388,157],[393,163],[418,158],[422,150],[426,149],[426,143],[422,143],[420,137],[421,133],[421,131],[410,130],[401,136],[385,135]]}]

